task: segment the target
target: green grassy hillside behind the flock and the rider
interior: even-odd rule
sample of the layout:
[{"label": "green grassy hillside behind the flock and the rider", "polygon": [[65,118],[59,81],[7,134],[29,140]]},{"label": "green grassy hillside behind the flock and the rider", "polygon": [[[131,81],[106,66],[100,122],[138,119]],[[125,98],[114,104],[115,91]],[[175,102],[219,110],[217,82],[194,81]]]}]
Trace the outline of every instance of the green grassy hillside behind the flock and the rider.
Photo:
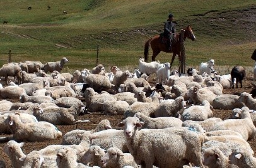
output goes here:
[{"label": "green grassy hillside behind the flock and the rider", "polygon": [[[8,62],[11,49],[15,62],[46,63],[66,56],[64,71],[92,68],[98,45],[98,63],[132,70],[143,56],[144,43],[163,31],[169,13],[177,31],[192,25],[196,41],[185,41],[187,66],[209,58],[221,67],[254,65],[255,0],[8,0],[0,1],[0,11],[0,65]],[[156,57],[160,62],[171,58],[170,53]]]}]

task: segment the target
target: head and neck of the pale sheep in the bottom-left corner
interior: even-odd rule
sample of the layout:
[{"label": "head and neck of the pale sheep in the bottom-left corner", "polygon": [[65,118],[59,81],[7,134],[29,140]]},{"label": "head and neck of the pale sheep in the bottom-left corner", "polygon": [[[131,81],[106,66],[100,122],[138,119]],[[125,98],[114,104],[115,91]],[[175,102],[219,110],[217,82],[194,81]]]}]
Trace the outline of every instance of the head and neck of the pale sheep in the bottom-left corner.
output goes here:
[{"label": "head and neck of the pale sheep in the bottom-left corner", "polygon": [[18,143],[15,140],[9,140],[3,147],[4,153],[8,155],[14,168],[20,168],[23,165],[23,162],[19,160],[20,157],[26,156],[21,149],[23,145],[24,142]]}]

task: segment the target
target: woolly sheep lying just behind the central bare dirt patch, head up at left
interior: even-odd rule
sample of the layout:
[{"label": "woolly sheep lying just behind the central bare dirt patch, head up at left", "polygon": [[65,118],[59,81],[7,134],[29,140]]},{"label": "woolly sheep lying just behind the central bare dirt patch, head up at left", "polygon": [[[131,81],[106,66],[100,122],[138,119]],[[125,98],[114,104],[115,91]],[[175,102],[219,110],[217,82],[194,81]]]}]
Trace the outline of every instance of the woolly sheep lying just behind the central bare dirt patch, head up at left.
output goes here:
[{"label": "woolly sheep lying just behind the central bare dirt patch, head up at left", "polygon": [[85,103],[89,112],[103,112],[103,103],[106,100],[116,100],[108,94],[95,95],[93,88],[86,88],[83,97],[85,97]]}]

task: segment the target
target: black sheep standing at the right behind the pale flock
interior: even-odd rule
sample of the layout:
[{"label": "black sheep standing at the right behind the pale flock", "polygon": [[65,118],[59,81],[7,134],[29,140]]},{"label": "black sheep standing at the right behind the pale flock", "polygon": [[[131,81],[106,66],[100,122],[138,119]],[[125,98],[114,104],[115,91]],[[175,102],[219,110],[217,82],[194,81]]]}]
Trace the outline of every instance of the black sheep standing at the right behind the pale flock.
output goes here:
[{"label": "black sheep standing at the right behind the pale flock", "polygon": [[243,86],[241,81],[246,75],[245,68],[243,68],[243,66],[236,65],[232,68],[230,75],[232,80],[232,88],[234,88],[234,78],[236,78],[236,88],[238,88],[238,82],[240,82],[240,86],[242,88]]}]

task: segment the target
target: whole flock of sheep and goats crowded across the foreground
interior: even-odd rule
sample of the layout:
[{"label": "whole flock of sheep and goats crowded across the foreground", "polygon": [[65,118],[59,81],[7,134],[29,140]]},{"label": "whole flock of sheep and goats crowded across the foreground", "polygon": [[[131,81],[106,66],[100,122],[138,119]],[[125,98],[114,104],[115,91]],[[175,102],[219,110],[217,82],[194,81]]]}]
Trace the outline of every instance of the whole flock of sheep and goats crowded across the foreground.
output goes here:
[{"label": "whole flock of sheep and goats crowded across the foreground", "polygon": [[[247,142],[256,134],[256,100],[246,92],[223,94],[235,82],[242,87],[242,66],[218,75],[209,60],[183,76],[170,71],[170,63],[140,58],[133,73],[117,66],[106,71],[101,64],[61,73],[67,62],[64,57],[0,68],[5,81],[0,86],[0,133],[12,135],[0,141],[13,167],[256,167]],[[153,74],[158,80],[154,86],[148,82]],[[213,117],[212,109],[231,110],[230,119]],[[55,127],[90,122],[76,118],[93,112],[122,115],[117,125],[122,130],[112,129],[108,120],[95,130],[65,135]],[[22,150],[26,141],[54,139],[62,139],[61,144],[29,154]]]}]

